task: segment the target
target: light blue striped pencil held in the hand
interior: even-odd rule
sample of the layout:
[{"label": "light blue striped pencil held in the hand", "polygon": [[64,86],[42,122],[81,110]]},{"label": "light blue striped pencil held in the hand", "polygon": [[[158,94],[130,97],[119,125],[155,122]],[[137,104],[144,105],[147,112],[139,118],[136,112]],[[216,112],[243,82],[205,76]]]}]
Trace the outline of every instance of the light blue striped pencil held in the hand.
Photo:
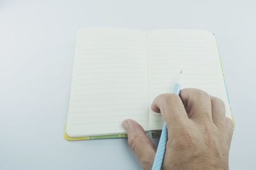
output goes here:
[{"label": "light blue striped pencil held in the hand", "polygon": [[[173,88],[173,94],[180,94],[180,76],[182,74],[182,70],[180,71],[179,74],[179,80],[174,84]],[[163,159],[164,159],[164,152],[166,148],[166,141],[167,141],[167,127],[166,123],[164,122],[163,130],[161,132],[161,137],[159,139],[159,143],[157,146],[157,151],[156,151],[156,156],[154,159],[153,167],[152,170],[161,170],[161,166],[163,164]]]}]

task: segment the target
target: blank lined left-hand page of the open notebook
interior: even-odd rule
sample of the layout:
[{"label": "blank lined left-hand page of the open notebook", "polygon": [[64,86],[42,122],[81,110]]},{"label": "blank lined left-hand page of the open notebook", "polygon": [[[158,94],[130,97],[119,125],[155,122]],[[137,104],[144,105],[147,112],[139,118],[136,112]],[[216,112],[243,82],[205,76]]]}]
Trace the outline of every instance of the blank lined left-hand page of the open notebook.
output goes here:
[{"label": "blank lined left-hand page of the open notebook", "polygon": [[148,129],[146,39],[146,32],[129,29],[78,32],[68,136],[124,133],[125,118]]}]

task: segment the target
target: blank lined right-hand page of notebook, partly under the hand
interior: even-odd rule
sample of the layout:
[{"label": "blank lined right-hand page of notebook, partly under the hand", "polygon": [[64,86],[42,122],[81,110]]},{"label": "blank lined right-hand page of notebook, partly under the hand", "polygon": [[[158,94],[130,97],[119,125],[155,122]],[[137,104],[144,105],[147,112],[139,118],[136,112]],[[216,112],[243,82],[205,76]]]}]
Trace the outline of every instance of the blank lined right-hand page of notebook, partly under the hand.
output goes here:
[{"label": "blank lined right-hand page of notebook, partly under the hand", "polygon": [[[148,32],[149,103],[159,94],[172,93],[182,69],[182,88],[197,88],[225,102],[228,99],[216,40],[211,32],[159,30]],[[150,110],[150,129],[162,129],[161,114]]]}]

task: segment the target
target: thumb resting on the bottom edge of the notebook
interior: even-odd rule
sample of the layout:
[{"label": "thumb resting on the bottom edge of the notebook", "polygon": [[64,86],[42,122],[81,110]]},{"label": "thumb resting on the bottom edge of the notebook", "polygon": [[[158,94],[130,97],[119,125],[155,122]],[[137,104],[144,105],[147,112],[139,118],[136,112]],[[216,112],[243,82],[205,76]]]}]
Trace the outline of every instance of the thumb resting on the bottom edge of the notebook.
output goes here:
[{"label": "thumb resting on the bottom edge of the notebook", "polygon": [[122,123],[128,135],[128,145],[140,161],[143,169],[151,169],[156,148],[145,134],[144,129],[134,120],[127,119]]}]

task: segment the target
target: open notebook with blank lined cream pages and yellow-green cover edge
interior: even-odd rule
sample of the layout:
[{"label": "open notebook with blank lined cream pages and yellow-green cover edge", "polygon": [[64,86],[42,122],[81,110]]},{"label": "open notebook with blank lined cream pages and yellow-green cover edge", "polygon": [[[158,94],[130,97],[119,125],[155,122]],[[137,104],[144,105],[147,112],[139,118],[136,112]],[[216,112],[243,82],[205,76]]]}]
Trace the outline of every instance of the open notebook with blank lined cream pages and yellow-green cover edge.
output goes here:
[{"label": "open notebook with blank lined cream pages and yellow-green cover edge", "polygon": [[163,127],[150,110],[156,96],[171,93],[183,70],[182,88],[221,98],[230,117],[214,35],[208,31],[88,28],[77,34],[65,138],[122,138],[131,118],[145,131]]}]

